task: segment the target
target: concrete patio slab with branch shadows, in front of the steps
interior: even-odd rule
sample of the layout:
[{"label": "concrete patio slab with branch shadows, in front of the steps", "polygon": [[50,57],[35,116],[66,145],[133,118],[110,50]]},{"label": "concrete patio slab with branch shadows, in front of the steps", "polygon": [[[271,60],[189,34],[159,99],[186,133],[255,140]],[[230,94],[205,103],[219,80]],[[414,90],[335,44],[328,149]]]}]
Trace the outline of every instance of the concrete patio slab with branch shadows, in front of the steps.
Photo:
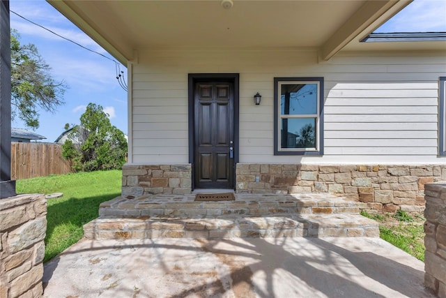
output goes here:
[{"label": "concrete patio slab with branch shadows, in front of the steps", "polygon": [[434,297],[424,263],[370,237],[83,239],[44,297]]}]

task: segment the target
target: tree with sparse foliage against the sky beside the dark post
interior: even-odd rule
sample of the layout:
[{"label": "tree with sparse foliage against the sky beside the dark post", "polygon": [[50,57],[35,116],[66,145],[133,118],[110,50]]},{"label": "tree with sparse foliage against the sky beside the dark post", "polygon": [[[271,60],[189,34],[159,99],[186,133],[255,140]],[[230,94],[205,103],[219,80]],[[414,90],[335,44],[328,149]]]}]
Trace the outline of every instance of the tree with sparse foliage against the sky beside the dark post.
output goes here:
[{"label": "tree with sparse foliage against the sky beside the dark post", "polygon": [[39,110],[54,112],[62,105],[66,85],[56,82],[51,68],[35,45],[20,45],[20,35],[11,30],[11,118],[26,126],[39,127]]}]

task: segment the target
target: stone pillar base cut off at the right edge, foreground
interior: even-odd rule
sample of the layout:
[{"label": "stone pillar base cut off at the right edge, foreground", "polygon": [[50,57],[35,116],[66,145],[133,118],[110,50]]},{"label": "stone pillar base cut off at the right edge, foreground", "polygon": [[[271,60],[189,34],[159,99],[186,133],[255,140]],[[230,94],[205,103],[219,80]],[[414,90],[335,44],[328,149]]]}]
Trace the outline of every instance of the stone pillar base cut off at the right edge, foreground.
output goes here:
[{"label": "stone pillar base cut off at the right edge, foreground", "polygon": [[424,285],[446,297],[446,184],[427,184],[424,210]]}]

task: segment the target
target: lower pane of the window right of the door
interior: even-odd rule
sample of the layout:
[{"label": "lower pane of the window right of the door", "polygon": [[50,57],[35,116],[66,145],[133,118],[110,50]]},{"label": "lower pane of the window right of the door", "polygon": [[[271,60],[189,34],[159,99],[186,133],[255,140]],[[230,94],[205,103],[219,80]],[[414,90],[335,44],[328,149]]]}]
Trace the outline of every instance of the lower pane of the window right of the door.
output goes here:
[{"label": "lower pane of the window right of the door", "polygon": [[316,148],[316,119],[282,119],[282,148]]}]

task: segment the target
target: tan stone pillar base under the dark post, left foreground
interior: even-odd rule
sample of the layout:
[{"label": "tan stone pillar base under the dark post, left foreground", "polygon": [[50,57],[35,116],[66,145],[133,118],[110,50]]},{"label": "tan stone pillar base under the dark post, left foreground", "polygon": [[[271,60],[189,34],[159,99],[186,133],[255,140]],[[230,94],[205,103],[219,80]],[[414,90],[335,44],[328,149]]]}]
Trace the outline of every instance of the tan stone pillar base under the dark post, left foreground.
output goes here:
[{"label": "tan stone pillar base under the dark post, left foreground", "polygon": [[46,214],[43,195],[0,200],[0,297],[42,297]]}]

